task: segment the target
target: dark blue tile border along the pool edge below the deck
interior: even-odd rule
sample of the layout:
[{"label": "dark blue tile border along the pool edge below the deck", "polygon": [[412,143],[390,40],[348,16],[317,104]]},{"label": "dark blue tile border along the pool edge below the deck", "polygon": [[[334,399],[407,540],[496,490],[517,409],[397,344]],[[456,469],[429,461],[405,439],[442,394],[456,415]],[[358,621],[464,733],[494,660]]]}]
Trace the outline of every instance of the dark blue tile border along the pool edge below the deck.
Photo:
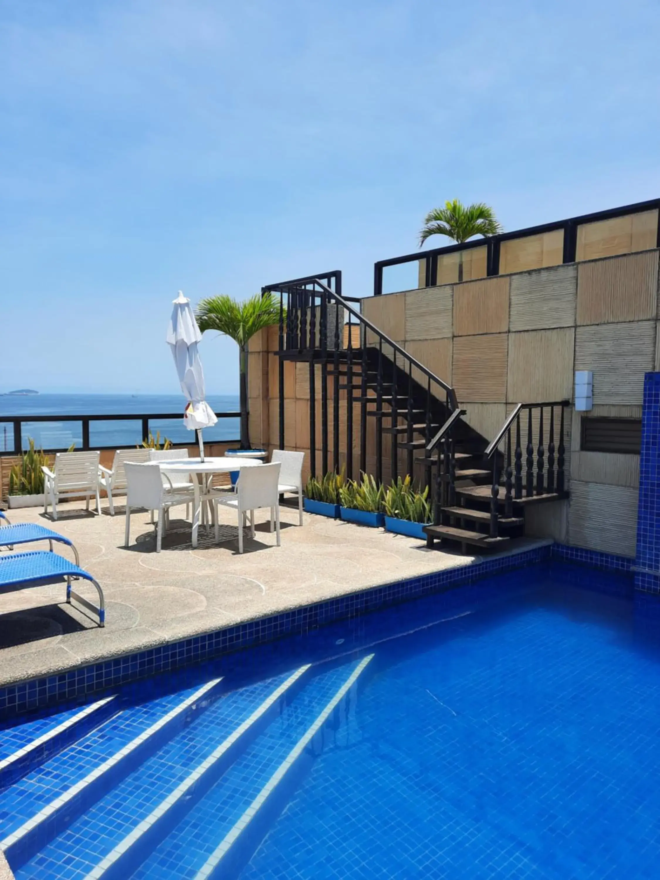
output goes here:
[{"label": "dark blue tile border along the pool edge below the deck", "polygon": [[0,718],[18,715],[28,709],[41,708],[60,700],[71,700],[105,688],[116,687],[148,678],[159,672],[198,664],[211,657],[231,651],[273,642],[287,635],[297,635],[324,627],[335,620],[346,620],[396,605],[408,599],[453,587],[474,583],[481,578],[513,568],[549,560],[551,546],[536,547],[524,553],[483,560],[471,565],[449,568],[430,575],[409,578],[396,583],[371,587],[348,596],[305,605],[271,617],[251,620],[235,627],[196,635],[182,642],[172,642],[137,654],[116,657],[105,663],[35,678],[18,685],[0,688]]}]

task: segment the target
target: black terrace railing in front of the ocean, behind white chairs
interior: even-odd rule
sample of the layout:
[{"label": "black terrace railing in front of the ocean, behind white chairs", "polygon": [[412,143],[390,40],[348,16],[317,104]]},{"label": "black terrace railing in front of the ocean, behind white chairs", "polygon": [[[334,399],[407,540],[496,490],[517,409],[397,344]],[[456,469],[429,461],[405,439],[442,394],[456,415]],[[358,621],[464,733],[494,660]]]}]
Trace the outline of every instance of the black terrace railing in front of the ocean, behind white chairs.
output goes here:
[{"label": "black terrace railing in front of the ocean, behind white chairs", "polygon": [[[216,413],[218,419],[239,419],[240,413]],[[80,424],[80,441],[75,442],[76,450],[85,451],[85,450],[101,450],[101,449],[117,449],[121,446],[129,446],[132,442],[125,442],[120,444],[94,444],[90,443],[90,426],[92,423],[96,424],[98,422],[140,422],[140,433],[142,438],[136,437],[135,443],[140,444],[143,441],[149,440],[150,429],[153,422],[167,422],[167,421],[179,421],[182,422],[183,414],[182,413],[121,413],[121,414],[67,414],[67,415],[59,415],[59,414],[39,414],[39,415],[0,415],[0,425],[4,427],[10,426],[10,434],[6,438],[3,437],[3,441],[0,443],[0,456],[7,455],[18,455],[23,449],[26,448],[26,439],[24,436],[24,426],[31,424],[33,422],[40,423],[61,423],[61,422],[77,422]],[[209,429],[209,433],[213,429]],[[11,436],[11,448],[9,448],[9,438]],[[191,444],[196,442],[196,438],[194,436],[194,432],[190,432]],[[209,443],[238,443],[237,438],[231,439],[218,439],[214,440],[209,436]],[[184,445],[184,441],[174,441],[175,445]],[[37,444],[40,446],[41,444]],[[68,449],[68,446],[62,447],[48,447],[44,448],[44,451],[47,452],[62,452]]]}]

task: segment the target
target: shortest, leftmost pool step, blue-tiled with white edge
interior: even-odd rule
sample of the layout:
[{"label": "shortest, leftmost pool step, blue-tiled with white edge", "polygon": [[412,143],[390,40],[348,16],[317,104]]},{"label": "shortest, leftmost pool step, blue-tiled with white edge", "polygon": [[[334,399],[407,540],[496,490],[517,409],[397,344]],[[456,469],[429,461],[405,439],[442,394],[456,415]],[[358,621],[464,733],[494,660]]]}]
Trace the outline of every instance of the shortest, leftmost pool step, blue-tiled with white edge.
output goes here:
[{"label": "shortest, leftmost pool step, blue-tiled with white edge", "polygon": [[68,712],[48,716],[43,719],[45,723],[38,725],[43,732],[31,739],[19,736],[19,731],[26,725],[4,730],[0,737],[6,757],[0,759],[0,788],[6,788],[34,767],[44,764],[53,755],[62,752],[67,745],[76,742],[89,730],[115,715],[118,710],[119,700],[116,696],[111,696],[96,700],[88,706],[78,706]]}]

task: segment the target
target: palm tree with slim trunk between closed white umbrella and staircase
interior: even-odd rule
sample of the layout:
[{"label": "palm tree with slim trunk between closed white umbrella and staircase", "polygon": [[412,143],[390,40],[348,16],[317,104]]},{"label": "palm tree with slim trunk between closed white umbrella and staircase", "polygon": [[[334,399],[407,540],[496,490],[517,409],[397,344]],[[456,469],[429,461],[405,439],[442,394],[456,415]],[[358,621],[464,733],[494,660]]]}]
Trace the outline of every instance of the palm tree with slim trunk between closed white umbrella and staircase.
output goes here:
[{"label": "palm tree with slim trunk between closed white umbrella and staircase", "polygon": [[223,294],[202,299],[195,315],[202,333],[217,330],[230,336],[238,345],[240,373],[240,445],[250,449],[250,430],[247,423],[247,343],[264,327],[280,320],[280,304],[274,293],[257,293],[242,303]]}]

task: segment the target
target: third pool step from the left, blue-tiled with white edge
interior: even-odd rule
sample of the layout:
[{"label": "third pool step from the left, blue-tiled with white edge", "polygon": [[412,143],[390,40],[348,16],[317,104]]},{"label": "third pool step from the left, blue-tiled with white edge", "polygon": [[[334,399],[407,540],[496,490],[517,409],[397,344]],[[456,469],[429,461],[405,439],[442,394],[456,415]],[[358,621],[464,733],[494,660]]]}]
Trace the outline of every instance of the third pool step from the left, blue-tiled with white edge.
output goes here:
[{"label": "third pool step from the left, blue-tiled with white edge", "polygon": [[[304,684],[309,665],[227,693],[44,847],[18,878],[125,877],[192,809]],[[81,841],[94,840],[93,848]],[[138,855],[141,854],[141,855]]]}]

